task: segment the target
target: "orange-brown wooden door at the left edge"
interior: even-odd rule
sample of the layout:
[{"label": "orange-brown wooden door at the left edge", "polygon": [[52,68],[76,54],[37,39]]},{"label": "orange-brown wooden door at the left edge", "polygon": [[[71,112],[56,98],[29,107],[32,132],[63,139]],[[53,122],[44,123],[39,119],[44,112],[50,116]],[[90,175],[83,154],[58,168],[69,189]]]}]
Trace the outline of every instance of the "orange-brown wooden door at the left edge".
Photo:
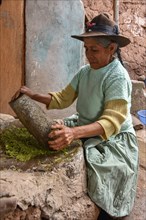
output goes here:
[{"label": "orange-brown wooden door at the left edge", "polygon": [[24,81],[24,0],[0,1],[0,113]]}]

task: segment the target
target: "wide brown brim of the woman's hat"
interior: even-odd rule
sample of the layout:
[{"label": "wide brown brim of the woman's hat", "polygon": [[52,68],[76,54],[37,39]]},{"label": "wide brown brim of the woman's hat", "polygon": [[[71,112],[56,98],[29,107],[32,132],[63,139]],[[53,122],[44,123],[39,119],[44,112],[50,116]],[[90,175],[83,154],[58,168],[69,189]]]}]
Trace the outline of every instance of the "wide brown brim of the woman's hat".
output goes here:
[{"label": "wide brown brim of the woman's hat", "polygon": [[122,35],[107,35],[102,32],[89,32],[89,33],[83,33],[80,35],[72,35],[71,37],[77,40],[81,40],[81,41],[84,41],[84,38],[87,38],[87,37],[106,37],[116,42],[119,45],[119,47],[125,47],[131,42],[129,38],[124,37]]}]

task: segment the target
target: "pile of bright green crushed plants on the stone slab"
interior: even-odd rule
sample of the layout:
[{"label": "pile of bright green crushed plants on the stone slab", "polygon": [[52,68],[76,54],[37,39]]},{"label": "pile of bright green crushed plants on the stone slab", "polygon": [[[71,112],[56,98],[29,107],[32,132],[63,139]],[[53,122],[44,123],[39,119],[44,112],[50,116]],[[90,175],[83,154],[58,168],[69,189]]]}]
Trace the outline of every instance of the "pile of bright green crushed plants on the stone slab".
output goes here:
[{"label": "pile of bright green crushed plants on the stone slab", "polygon": [[20,161],[28,161],[36,156],[50,155],[53,151],[40,149],[40,144],[26,128],[12,127],[1,134],[5,153]]}]

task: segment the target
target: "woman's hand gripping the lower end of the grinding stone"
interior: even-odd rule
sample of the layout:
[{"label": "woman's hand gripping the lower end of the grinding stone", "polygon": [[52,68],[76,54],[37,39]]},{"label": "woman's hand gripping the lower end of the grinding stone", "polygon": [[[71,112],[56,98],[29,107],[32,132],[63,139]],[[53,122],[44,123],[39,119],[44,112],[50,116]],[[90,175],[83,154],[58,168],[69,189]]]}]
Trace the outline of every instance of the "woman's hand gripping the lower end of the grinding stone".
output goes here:
[{"label": "woman's hand gripping the lower end of the grinding stone", "polygon": [[48,141],[49,148],[53,150],[61,150],[74,140],[73,129],[62,124],[51,126],[52,131],[48,137],[52,140]]}]

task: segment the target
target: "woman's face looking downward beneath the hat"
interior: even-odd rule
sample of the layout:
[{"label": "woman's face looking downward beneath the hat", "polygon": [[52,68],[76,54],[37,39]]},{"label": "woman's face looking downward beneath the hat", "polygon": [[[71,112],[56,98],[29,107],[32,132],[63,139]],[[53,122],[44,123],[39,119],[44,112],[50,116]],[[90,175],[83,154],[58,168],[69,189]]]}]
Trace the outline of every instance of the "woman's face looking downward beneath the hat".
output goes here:
[{"label": "woman's face looking downward beneath the hat", "polygon": [[104,48],[102,44],[98,44],[96,39],[85,38],[84,47],[86,57],[90,63],[91,68],[99,69],[111,62],[112,55],[114,54],[112,44],[110,44],[107,48]]}]

